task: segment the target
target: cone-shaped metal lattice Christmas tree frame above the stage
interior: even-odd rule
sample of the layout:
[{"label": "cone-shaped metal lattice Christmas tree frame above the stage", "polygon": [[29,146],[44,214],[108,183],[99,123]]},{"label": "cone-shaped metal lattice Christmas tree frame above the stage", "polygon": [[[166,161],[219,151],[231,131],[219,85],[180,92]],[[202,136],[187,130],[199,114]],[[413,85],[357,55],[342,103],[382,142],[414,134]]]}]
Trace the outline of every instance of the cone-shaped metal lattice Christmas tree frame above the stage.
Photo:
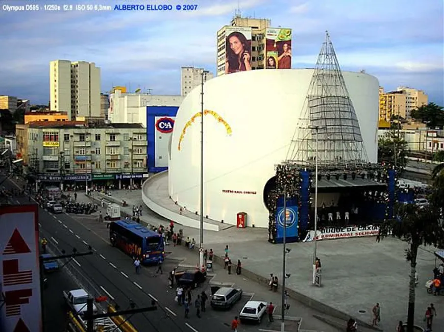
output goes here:
[{"label": "cone-shaped metal lattice Christmas tree frame above the stage", "polygon": [[[326,31],[284,164],[355,169],[368,164],[359,122]],[[317,145],[317,149],[316,149]]]}]

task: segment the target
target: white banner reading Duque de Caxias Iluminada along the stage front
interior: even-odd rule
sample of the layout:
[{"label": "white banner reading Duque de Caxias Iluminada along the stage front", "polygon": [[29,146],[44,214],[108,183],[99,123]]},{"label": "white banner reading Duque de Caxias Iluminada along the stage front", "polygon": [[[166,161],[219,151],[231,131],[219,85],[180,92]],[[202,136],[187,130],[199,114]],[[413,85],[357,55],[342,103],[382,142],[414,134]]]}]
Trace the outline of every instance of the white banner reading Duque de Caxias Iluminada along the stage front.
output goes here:
[{"label": "white banner reading Duque de Caxias Iluminada along the stage front", "polygon": [[[316,231],[316,240],[329,239],[350,239],[363,236],[375,236],[379,234],[379,226],[347,226],[347,227],[326,227]],[[302,242],[314,240],[314,231],[309,231]]]}]

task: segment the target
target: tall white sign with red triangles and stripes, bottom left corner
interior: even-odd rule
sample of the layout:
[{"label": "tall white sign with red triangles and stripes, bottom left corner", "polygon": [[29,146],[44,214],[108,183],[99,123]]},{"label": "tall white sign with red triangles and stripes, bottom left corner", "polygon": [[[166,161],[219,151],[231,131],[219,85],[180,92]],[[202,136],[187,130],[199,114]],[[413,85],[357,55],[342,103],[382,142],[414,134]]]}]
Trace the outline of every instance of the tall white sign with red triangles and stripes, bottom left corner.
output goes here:
[{"label": "tall white sign with red triangles and stripes, bottom left corner", "polygon": [[42,332],[37,219],[35,205],[2,207],[0,212],[2,332]]}]

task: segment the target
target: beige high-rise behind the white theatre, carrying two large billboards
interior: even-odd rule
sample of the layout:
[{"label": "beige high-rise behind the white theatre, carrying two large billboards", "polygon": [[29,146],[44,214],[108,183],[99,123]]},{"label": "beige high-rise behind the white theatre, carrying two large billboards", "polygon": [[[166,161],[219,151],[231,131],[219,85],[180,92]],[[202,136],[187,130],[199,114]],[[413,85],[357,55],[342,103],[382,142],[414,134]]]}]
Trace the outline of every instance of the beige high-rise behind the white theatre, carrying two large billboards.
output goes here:
[{"label": "beige high-rise behind the white theatre, carrying two large billboards", "polygon": [[264,68],[264,51],[265,51],[265,29],[270,28],[272,21],[265,18],[241,17],[235,15],[231,20],[231,25],[225,25],[217,31],[217,76],[225,74],[226,60],[226,29],[227,27],[251,28],[251,66],[252,69]]}]

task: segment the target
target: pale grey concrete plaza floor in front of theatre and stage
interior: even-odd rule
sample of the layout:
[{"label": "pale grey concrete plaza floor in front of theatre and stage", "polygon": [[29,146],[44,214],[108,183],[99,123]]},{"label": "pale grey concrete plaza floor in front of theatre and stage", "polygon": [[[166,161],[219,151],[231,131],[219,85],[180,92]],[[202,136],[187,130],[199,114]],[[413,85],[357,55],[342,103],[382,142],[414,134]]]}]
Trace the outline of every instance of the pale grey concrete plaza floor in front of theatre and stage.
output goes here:
[{"label": "pale grey concrete plaza floor in front of theatre and stage", "polygon": [[[164,197],[166,186],[166,176],[163,179],[156,177],[153,187],[149,185],[147,195],[153,201],[163,201],[167,199]],[[131,205],[142,204],[140,191],[114,191],[112,195],[114,199],[125,199]],[[174,203],[171,202],[171,206],[174,207]],[[122,212],[131,213],[131,206],[122,208]],[[167,226],[169,222],[146,207],[142,219],[154,225]],[[199,229],[180,225],[177,228],[183,228],[185,237],[195,238],[199,242]],[[273,273],[281,283],[282,247],[269,244],[266,240],[267,230],[260,228],[228,227],[221,228],[219,232],[204,232],[205,247],[213,248],[216,255],[223,256],[228,244],[233,262],[240,259],[245,270],[263,278]],[[405,260],[405,242],[386,238],[378,243],[376,237],[318,241],[317,256],[323,267],[320,288],[311,285],[313,243],[292,243],[288,247],[291,248],[287,255],[287,273],[291,274],[287,279],[289,289],[367,323],[371,323],[373,305],[379,302],[380,327],[385,331],[394,330],[399,320],[406,321],[410,267]],[[437,311],[434,330],[439,331],[444,326],[444,297],[429,295],[425,288],[435,264],[433,251],[432,247],[422,247],[418,252],[420,283],[416,288],[415,323],[420,326],[424,324],[427,305],[433,302]],[[309,302],[309,299],[306,301]]]}]

